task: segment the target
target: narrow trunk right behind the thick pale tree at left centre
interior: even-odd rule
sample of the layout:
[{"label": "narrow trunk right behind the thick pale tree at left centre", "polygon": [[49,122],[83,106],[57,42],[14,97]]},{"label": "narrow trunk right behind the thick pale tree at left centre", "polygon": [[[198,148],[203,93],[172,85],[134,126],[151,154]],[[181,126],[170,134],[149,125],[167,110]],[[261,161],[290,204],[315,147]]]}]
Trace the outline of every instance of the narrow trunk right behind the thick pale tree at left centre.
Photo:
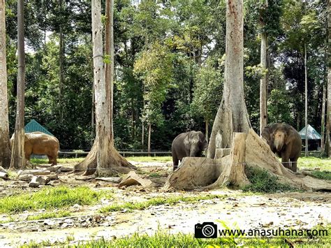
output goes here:
[{"label": "narrow trunk right behind the thick pale tree at left centre", "polygon": [[109,56],[110,63],[105,64],[105,84],[108,88],[107,97],[109,98],[108,102],[108,111],[110,117],[110,128],[111,132],[111,140],[114,142],[113,136],[113,122],[112,122],[112,109],[113,109],[113,92],[114,89],[114,0],[106,0],[105,1],[105,54]]}]

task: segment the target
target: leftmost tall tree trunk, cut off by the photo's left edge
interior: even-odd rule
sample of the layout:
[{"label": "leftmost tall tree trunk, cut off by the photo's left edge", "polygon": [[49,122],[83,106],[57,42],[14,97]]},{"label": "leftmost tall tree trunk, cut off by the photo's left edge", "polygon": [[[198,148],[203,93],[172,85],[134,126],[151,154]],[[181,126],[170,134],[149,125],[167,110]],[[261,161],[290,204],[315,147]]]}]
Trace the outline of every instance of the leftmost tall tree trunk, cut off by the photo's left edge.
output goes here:
[{"label": "leftmost tall tree trunk, cut off by the photo's left edge", "polygon": [[0,166],[9,168],[9,122],[7,99],[7,64],[6,64],[6,17],[5,1],[0,0]]}]

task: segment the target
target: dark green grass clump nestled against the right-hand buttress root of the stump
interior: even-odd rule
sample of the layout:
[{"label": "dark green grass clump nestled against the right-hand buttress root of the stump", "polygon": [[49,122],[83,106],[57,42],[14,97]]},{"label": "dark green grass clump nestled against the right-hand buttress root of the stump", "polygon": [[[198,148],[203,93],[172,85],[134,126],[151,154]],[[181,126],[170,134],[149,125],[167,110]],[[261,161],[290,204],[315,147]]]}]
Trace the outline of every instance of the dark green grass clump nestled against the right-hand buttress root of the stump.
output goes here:
[{"label": "dark green grass clump nestled against the right-hand buttress root of the stump", "polygon": [[282,184],[275,175],[271,175],[267,170],[261,170],[247,166],[245,173],[251,184],[245,186],[243,191],[274,193],[277,191],[293,191],[290,185]]}]

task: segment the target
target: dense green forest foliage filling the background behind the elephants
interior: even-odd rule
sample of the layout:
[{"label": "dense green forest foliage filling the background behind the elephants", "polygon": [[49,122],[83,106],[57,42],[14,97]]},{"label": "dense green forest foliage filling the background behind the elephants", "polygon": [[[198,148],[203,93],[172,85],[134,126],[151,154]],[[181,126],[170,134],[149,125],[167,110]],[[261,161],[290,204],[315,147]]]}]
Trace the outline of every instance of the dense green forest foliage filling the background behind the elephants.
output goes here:
[{"label": "dense green forest foliage filling the background behind the elephants", "polygon": [[[304,127],[306,43],[308,123],[321,131],[328,1],[268,3],[267,9],[258,0],[246,1],[244,6],[244,91],[251,125],[258,131],[259,85],[266,73],[260,67],[260,34],[267,32],[268,123]],[[11,132],[17,94],[16,14],[16,1],[6,1]],[[178,133],[211,129],[223,93],[225,2],[117,0],[114,18],[115,147],[146,149],[149,124],[154,150],[170,150]],[[261,18],[266,23],[263,28]],[[24,19],[25,123],[36,119],[43,124],[59,138],[61,149],[90,149],[94,138],[91,3],[63,1],[60,6],[59,1],[28,1]]]}]

